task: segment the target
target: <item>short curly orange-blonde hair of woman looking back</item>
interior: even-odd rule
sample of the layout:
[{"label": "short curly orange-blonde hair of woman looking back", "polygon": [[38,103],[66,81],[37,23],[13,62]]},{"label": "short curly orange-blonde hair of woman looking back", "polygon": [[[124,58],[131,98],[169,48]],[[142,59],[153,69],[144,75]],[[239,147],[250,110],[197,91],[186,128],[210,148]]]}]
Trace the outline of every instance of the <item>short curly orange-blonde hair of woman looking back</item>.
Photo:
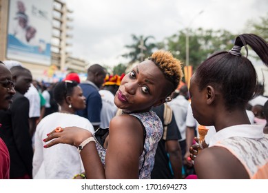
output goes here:
[{"label": "short curly orange-blonde hair of woman looking back", "polygon": [[165,78],[172,82],[175,90],[183,78],[183,70],[181,70],[181,61],[174,58],[172,53],[165,50],[158,50],[152,54],[149,60],[153,61],[163,72]]}]

